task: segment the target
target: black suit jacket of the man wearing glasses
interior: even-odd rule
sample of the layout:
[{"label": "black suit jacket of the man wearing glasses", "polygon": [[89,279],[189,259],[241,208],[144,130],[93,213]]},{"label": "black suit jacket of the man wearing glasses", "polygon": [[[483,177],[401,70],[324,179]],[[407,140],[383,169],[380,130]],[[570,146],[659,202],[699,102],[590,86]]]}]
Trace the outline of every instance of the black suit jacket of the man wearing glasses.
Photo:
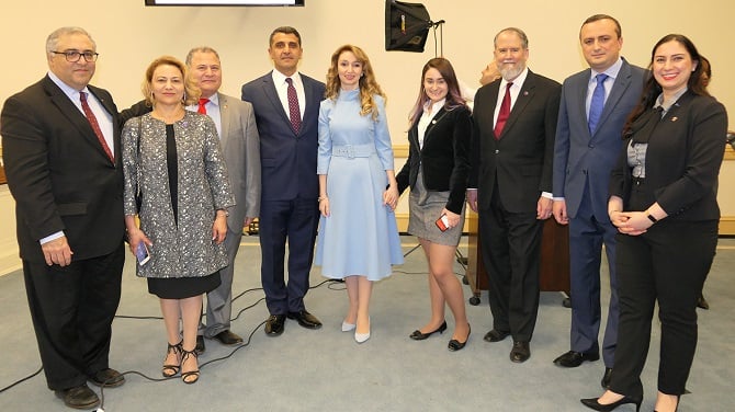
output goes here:
[{"label": "black suit jacket of the man wearing glasses", "polygon": [[88,88],[112,115],[115,164],[84,115],[48,77],[2,108],[3,160],[22,259],[43,262],[38,240],[61,230],[75,261],[109,254],[123,240],[117,107],[105,90]]}]

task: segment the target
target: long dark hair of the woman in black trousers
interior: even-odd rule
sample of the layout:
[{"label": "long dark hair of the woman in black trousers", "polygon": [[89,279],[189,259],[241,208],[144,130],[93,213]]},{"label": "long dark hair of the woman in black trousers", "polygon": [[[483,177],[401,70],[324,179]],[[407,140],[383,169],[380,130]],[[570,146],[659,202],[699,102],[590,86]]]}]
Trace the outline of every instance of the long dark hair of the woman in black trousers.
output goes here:
[{"label": "long dark hair of the woman in black trousers", "polygon": [[656,50],[660,45],[669,42],[677,42],[680,45],[682,45],[687,49],[687,53],[689,53],[691,60],[697,62],[697,68],[694,69],[694,71],[691,72],[689,81],[687,81],[687,88],[694,94],[708,95],[708,96],[710,95],[710,93],[706,91],[706,85],[702,81],[703,65],[700,64],[700,61],[702,60],[702,56],[700,56],[694,44],[683,34],[667,34],[656,43],[653,50],[651,52],[651,62],[648,64],[648,78],[646,79],[646,83],[643,87],[643,93],[641,94],[641,100],[638,101],[638,104],[635,106],[633,112],[631,112],[630,116],[627,116],[627,121],[625,122],[625,126],[623,127],[623,137],[627,136],[631,133],[631,125],[633,124],[633,122],[635,122],[635,119],[641,117],[641,115],[645,113],[648,108],[653,107],[654,104],[656,103],[656,99],[658,98],[659,94],[662,94],[663,89],[660,84],[658,84],[658,82],[656,81],[656,78],[653,76],[652,68],[654,65]]}]

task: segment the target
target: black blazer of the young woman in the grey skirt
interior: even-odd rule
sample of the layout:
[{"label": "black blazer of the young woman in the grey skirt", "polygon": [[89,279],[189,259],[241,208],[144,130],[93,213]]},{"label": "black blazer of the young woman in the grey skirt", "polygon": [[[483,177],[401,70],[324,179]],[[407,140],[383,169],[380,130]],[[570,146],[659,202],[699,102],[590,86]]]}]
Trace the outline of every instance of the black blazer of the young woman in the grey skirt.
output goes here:
[{"label": "black blazer of the young woman in the grey skirt", "polygon": [[408,130],[408,160],[396,175],[398,192],[415,187],[419,168],[429,191],[449,191],[446,209],[461,214],[470,172],[472,118],[466,106],[442,107],[427,127],[423,148],[419,149],[418,122]]}]

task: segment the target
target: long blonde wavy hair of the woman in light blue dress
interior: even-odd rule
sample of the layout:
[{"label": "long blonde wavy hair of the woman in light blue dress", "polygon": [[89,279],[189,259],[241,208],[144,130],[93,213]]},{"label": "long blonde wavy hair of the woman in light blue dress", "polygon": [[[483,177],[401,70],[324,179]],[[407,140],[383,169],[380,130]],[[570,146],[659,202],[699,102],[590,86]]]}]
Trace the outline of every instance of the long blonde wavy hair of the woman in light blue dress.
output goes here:
[{"label": "long blonde wavy hair of the woman in light blue dress", "polygon": [[385,93],[383,93],[381,85],[375,81],[375,72],[373,72],[373,66],[370,64],[368,55],[358,46],[346,44],[331,55],[331,66],[327,71],[327,91],[325,98],[337,100],[337,96],[339,95],[341,84],[337,68],[339,66],[339,56],[344,52],[352,53],[358,61],[362,64],[362,77],[360,77],[358,83],[358,87],[360,88],[360,115],[364,116],[370,113],[373,121],[376,121],[378,113],[373,95],[377,94],[383,98],[384,101],[387,101],[387,98],[385,96]]}]

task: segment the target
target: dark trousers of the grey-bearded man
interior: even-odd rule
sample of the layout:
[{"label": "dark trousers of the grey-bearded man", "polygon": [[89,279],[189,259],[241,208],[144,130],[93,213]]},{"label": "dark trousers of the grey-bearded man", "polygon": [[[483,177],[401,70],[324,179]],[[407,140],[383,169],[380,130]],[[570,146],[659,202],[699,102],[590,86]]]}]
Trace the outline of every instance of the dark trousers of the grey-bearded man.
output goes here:
[{"label": "dark trousers of the grey-bearded man", "polygon": [[508,211],[497,187],[490,208],[479,210],[483,260],[489,277],[493,328],[530,342],[539,312],[543,220],[536,211]]}]

